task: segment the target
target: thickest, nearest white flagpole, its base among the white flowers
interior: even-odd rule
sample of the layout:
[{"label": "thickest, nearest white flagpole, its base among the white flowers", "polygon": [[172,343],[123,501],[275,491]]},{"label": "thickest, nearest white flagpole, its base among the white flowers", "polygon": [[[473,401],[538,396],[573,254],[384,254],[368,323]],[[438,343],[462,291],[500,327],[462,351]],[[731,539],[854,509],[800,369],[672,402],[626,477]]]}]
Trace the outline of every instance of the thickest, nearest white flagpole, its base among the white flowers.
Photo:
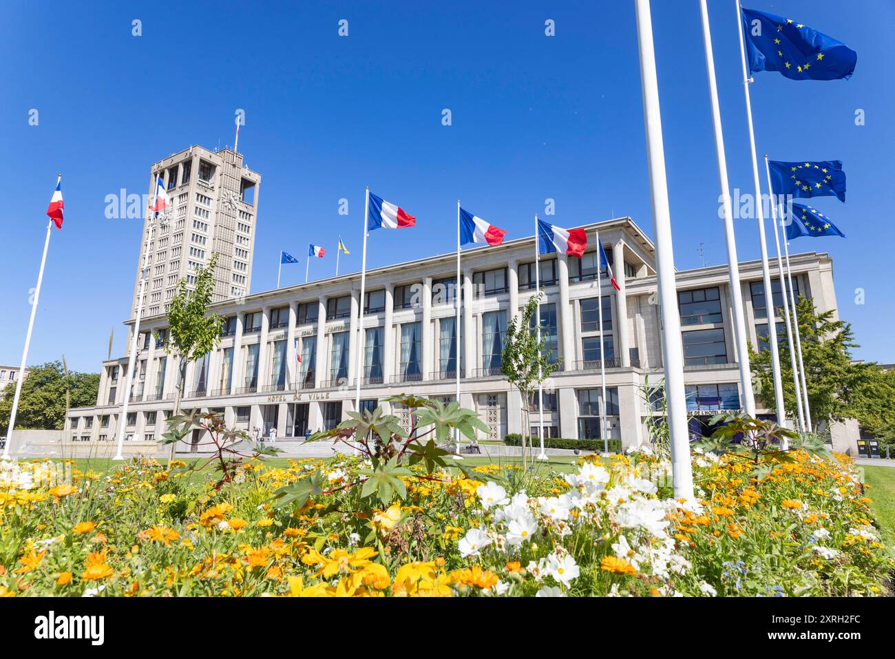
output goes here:
[{"label": "thickest, nearest white flagpole, its base among the white flowers", "polygon": [[684,347],[680,336],[680,310],[671,241],[671,214],[668,180],[665,175],[665,148],[662,142],[659,81],[652,44],[650,0],[635,0],[635,8],[644,95],[646,158],[652,193],[652,233],[656,236],[656,284],[661,305],[662,364],[665,371],[665,396],[668,400],[674,495],[677,499],[693,499],[693,466],[690,463],[690,433],[684,392]]}]

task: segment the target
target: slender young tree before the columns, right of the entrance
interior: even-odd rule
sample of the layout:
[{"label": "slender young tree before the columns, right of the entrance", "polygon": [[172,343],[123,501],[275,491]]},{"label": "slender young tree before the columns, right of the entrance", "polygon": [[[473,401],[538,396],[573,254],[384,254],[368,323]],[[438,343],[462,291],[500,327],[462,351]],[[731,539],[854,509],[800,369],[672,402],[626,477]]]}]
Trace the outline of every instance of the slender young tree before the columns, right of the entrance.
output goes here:
[{"label": "slender young tree before the columns, right of the entrance", "polygon": [[500,353],[500,371],[507,376],[511,385],[519,389],[522,398],[522,466],[528,466],[526,454],[526,438],[531,434],[530,401],[532,392],[541,382],[557,370],[558,362],[551,362],[553,350],[547,349],[548,333],[541,328],[532,328],[532,319],[541,301],[541,291],[532,295],[522,310],[522,314],[513,318],[507,326],[507,339]]}]

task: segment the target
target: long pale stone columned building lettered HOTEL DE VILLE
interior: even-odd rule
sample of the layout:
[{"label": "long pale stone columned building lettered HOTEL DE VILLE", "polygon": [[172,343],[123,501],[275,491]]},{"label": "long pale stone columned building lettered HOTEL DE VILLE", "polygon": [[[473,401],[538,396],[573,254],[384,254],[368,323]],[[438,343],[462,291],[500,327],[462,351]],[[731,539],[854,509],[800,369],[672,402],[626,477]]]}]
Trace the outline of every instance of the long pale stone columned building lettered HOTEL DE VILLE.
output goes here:
[{"label": "long pale stone columned building lettered HOTEL DE VILLE", "polygon": [[[227,158],[232,160],[225,153],[220,167],[228,165]],[[201,163],[194,163],[201,171]],[[166,164],[166,170],[171,167]],[[257,182],[256,177],[251,180]],[[236,179],[232,186],[238,190]],[[256,207],[238,193],[229,195],[228,203],[234,221],[244,224],[244,235],[251,235],[252,241],[244,243],[251,249],[254,226],[246,218],[254,217]],[[185,217],[192,218],[192,212]],[[649,441],[644,420],[655,414],[644,401],[642,387],[662,379],[655,249],[631,218],[584,228],[589,244],[582,259],[557,254],[541,258],[540,280],[546,294],[541,324],[560,363],[545,383],[545,432],[566,438],[600,437],[602,359],[609,435],[632,446]],[[598,229],[620,287],[616,292],[605,277],[601,279],[602,346]],[[238,244],[234,240],[231,247]],[[369,270],[363,299],[361,274],[355,272],[216,302],[212,311],[225,319],[220,342],[209,355],[189,365],[183,408],[222,414],[228,427],[254,436],[268,436],[276,428],[277,440],[298,438],[345,419],[354,409],[357,379],[362,385],[361,407],[389,407],[385,399],[402,392],[454,400],[459,369],[460,403],[478,412],[488,426],[482,440],[523,432],[521,400],[501,374],[500,353],[507,323],[535,290],[534,250],[530,236],[463,252],[459,328],[454,252]],[[230,255],[224,256],[226,261]],[[799,253],[791,257],[791,263],[797,293],[812,298],[822,312],[835,310],[830,257]],[[225,265],[230,277],[243,272],[234,270],[232,263]],[[760,338],[769,331],[769,305],[760,261],[740,263],[740,277],[748,338],[753,346],[766,349]],[[679,271],[677,283],[687,408],[692,414],[692,434],[699,435],[718,410],[740,407],[728,268]],[[224,284],[220,290],[226,288]],[[772,286],[772,321],[782,332],[776,274]],[[124,391],[127,357],[123,356],[102,364],[97,405],[71,410],[65,441],[114,441],[119,424],[124,424],[125,436],[132,440],[158,441],[166,432],[178,369],[164,351],[166,316],[159,307],[149,301],[149,315],[141,322],[126,418],[120,418],[128,395]],[[363,329],[358,336],[361,314]],[[132,321],[129,324],[132,327]],[[360,371],[358,350],[363,353]],[[409,425],[406,410],[392,406],[391,411]],[[759,413],[772,415],[773,411],[760,409]],[[536,434],[537,415],[532,418]],[[835,424],[832,437],[836,449],[857,454],[857,425]]]}]

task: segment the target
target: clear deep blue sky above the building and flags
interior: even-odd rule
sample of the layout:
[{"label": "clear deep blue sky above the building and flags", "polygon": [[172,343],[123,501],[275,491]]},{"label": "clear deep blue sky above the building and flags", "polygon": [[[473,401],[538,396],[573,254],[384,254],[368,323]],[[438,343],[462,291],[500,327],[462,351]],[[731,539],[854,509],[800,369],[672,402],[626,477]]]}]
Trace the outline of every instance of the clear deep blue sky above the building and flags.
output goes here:
[{"label": "clear deep blue sky above the building and flags", "polygon": [[[718,178],[696,0],[654,1],[653,29],[678,269],[725,261]],[[594,6],[599,6],[598,11]],[[891,327],[895,106],[889,0],[751,0],[857,50],[850,81],[752,86],[759,153],[845,164],[848,203],[814,200],[848,235],[802,238],[833,258],[840,313],[857,355],[895,361]],[[752,189],[733,0],[712,0],[712,36],[730,184]],[[132,20],[142,36],[132,36]],[[349,36],[337,22],[349,21]],[[544,21],[556,21],[556,36]],[[652,235],[634,3],[25,3],[0,8],[3,286],[0,363],[19,364],[47,208],[64,173],[65,225],[54,232],[30,364],[57,359],[96,372],[115,327],[125,351],[141,220],[107,219],[106,195],[145,193],[149,164],[190,144],[239,143],[260,171],[252,292],[276,286],[285,249],[335,255],[359,270],[363,188],[401,204],[416,228],[372,235],[371,266],[448,252],[457,197],[531,235],[556,200],[560,226],[630,215]],[[231,37],[232,35],[232,37]],[[29,125],[37,108],[39,124]],[[441,124],[449,108],[453,124]],[[866,124],[856,126],[863,108]],[[348,217],[337,214],[340,198]],[[741,260],[757,258],[754,220],[737,222]],[[312,274],[333,272],[328,255]],[[344,271],[345,271],[344,270]],[[855,289],[865,304],[854,304]]]}]

